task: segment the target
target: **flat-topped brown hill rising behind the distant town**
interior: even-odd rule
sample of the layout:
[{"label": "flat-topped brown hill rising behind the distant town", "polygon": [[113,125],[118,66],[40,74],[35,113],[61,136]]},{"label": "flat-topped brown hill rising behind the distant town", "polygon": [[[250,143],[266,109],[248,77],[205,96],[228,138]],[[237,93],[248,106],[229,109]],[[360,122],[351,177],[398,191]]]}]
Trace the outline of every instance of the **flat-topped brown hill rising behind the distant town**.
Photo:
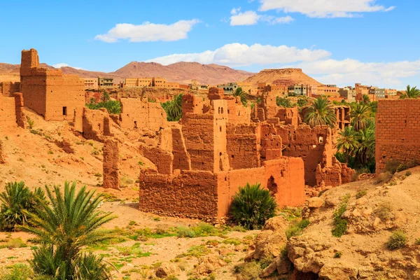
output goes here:
[{"label": "flat-topped brown hill rising behind the distant town", "polygon": [[321,83],[317,80],[303,73],[302,69],[293,68],[265,69],[260,71],[260,73],[247,78],[245,81],[253,83],[254,86],[257,86],[258,83],[269,83],[283,86],[295,84],[321,85]]}]

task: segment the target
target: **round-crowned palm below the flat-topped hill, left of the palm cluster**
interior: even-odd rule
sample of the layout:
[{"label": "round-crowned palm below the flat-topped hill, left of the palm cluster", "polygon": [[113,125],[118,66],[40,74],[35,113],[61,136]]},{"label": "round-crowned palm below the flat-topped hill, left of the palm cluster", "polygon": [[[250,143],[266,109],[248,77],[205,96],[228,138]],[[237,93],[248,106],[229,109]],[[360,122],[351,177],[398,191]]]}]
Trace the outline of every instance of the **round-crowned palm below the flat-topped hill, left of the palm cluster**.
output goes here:
[{"label": "round-crowned palm below the flat-topped hill, left of the palm cluster", "polygon": [[329,125],[331,128],[334,128],[337,123],[337,116],[335,116],[335,110],[332,108],[328,98],[318,97],[311,102],[304,121],[310,127]]}]

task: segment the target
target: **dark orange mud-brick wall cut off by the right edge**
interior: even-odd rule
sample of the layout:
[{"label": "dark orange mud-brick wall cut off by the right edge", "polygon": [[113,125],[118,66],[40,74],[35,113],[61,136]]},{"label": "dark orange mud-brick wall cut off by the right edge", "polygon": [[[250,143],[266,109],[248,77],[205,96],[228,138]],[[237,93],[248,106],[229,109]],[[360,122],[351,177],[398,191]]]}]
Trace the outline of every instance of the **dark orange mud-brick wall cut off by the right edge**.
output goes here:
[{"label": "dark orange mud-brick wall cut off by the right edge", "polygon": [[381,99],[376,115],[376,171],[386,162],[408,163],[420,157],[420,99]]}]

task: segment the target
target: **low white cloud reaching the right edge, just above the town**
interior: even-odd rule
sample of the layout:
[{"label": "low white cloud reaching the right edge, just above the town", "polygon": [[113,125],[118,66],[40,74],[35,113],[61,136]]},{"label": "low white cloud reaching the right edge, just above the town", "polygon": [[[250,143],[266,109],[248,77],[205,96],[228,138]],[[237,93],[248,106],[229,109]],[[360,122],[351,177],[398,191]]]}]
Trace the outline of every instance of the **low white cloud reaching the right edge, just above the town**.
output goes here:
[{"label": "low white cloud reaching the right edge, just above the town", "polygon": [[420,76],[420,59],[402,62],[360,62],[356,59],[325,59],[316,62],[301,62],[293,67],[304,73],[317,75],[321,83],[352,85],[402,85],[402,80]]}]

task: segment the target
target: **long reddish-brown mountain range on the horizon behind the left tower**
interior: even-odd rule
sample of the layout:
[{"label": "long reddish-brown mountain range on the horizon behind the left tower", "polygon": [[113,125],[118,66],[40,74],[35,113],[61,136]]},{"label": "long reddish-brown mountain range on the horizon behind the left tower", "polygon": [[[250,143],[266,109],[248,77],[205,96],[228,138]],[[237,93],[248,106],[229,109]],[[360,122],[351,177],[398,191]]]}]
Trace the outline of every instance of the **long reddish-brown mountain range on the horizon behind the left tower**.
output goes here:
[{"label": "long reddish-brown mountain range on the horizon behind the left tower", "polygon": [[[53,68],[47,64],[43,67]],[[19,64],[0,64],[0,73],[19,73]],[[72,67],[62,67],[64,74],[75,74],[81,78],[106,76],[114,78],[116,83],[125,78],[157,77],[166,78],[169,82],[188,84],[191,80],[197,83],[217,85],[221,83],[242,81],[254,73],[235,70],[228,66],[216,64],[200,64],[197,62],[177,62],[167,66],[155,62],[130,62],[115,72],[104,73],[98,71],[86,71]]]}]

